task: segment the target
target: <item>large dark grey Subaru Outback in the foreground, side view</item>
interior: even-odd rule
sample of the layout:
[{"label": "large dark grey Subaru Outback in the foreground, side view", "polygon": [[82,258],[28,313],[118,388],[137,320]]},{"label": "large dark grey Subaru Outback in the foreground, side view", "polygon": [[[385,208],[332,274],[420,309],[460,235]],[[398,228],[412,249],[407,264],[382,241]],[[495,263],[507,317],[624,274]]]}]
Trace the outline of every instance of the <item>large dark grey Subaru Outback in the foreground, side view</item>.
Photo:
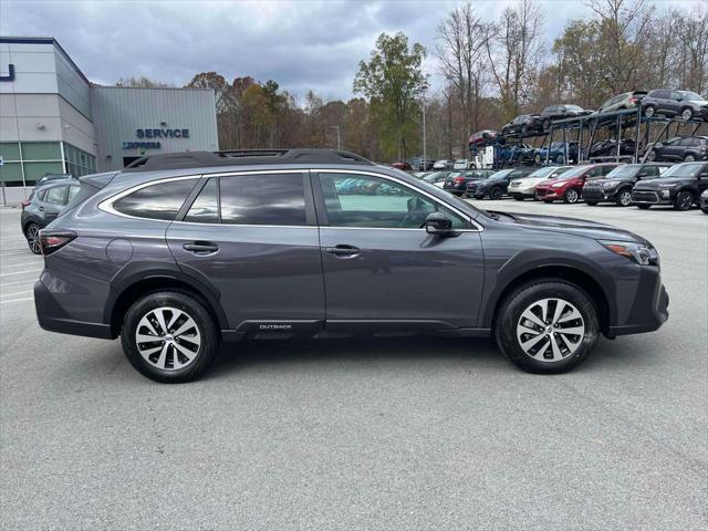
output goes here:
[{"label": "large dark grey Subaru Outback in the foreground, side view", "polygon": [[560,373],[668,316],[656,250],[622,229],[487,212],[343,152],[134,164],[82,178],[95,194],[41,231],[34,300],[43,329],[119,336],[158,382],[196,378],[222,341],[356,333],[493,336]]}]

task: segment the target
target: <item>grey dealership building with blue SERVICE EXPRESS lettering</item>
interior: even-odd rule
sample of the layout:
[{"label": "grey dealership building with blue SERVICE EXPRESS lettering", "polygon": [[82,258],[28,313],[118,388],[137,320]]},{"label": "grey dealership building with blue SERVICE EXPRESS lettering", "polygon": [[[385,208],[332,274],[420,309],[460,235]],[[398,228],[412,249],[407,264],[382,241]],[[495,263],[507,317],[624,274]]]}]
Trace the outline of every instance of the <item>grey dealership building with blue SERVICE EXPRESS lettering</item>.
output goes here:
[{"label": "grey dealership building with blue SERVICE EXPRESS lettering", "polygon": [[6,187],[121,169],[145,155],[218,150],[210,88],[92,84],[53,38],[0,38]]}]

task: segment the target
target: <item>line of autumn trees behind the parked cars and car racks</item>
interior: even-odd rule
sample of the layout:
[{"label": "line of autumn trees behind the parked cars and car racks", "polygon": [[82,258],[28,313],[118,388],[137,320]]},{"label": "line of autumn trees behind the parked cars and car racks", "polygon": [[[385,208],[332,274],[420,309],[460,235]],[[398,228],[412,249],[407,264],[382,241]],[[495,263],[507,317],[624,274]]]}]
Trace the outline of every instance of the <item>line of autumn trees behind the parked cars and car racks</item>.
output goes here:
[{"label": "line of autumn trees behind the parked cars and car racks", "polygon": [[[221,149],[336,147],[373,160],[421,155],[423,111],[429,158],[465,156],[475,131],[558,103],[596,108],[632,90],[708,91],[708,6],[658,11],[645,0],[589,0],[592,17],[570,21],[552,42],[535,0],[518,0],[487,21],[472,3],[448,13],[426,50],[404,33],[378,37],[353,80],[355,97],[304,98],[278,82],[195,75],[212,88]],[[425,74],[426,56],[437,71]],[[439,76],[431,83],[431,76]],[[124,86],[164,86],[148,79]],[[440,88],[431,90],[430,85]]]}]

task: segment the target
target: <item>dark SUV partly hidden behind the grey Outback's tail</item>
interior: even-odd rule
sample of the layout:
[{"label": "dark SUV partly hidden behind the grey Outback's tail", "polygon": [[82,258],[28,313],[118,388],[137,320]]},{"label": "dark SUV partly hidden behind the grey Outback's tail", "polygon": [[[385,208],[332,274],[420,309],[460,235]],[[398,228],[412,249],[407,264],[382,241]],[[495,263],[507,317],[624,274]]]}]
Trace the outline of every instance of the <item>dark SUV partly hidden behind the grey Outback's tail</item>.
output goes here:
[{"label": "dark SUV partly hidden behind the grey Outback's tail", "polygon": [[40,229],[52,222],[66,204],[79,194],[76,179],[56,179],[35,188],[29,202],[22,209],[20,225],[28,246],[34,254],[40,254]]}]

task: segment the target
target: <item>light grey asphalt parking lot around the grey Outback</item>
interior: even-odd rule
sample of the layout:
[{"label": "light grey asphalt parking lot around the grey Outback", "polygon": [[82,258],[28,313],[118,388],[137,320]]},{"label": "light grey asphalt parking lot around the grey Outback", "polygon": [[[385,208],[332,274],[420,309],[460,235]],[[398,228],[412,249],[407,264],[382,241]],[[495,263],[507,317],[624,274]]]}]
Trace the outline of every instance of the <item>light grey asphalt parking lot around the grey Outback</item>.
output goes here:
[{"label": "light grey asphalt parking lot around the grey Outback", "polygon": [[647,237],[669,321],[561,376],[407,339],[247,343],[158,385],[40,330],[42,259],[0,209],[0,528],[708,528],[708,216],[476,202]]}]

